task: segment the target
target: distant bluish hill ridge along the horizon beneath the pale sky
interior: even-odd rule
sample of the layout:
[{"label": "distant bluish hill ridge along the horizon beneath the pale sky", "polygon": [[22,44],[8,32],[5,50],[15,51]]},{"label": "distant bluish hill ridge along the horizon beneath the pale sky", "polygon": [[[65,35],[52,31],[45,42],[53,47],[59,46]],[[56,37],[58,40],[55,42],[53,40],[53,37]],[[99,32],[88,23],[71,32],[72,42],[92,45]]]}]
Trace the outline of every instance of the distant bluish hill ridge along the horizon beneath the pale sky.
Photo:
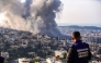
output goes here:
[{"label": "distant bluish hill ridge along the horizon beneath the pale sky", "polygon": [[59,27],[68,27],[68,28],[86,28],[86,29],[101,29],[101,27],[97,27],[97,26],[78,26],[78,25],[59,26]]}]

